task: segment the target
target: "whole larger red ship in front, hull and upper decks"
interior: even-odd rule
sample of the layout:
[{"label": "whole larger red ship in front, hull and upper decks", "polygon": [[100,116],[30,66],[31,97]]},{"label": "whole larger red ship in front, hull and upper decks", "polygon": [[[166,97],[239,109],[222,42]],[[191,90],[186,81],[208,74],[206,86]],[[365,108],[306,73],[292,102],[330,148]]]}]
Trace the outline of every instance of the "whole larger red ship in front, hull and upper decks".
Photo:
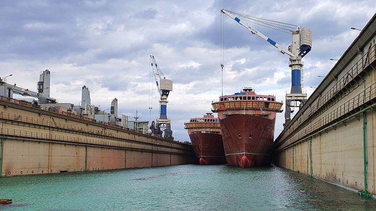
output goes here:
[{"label": "whole larger red ship in front, hull and upper decks", "polygon": [[282,112],[282,105],[275,96],[257,95],[250,87],[213,101],[228,164],[243,168],[271,164],[276,113]]}]

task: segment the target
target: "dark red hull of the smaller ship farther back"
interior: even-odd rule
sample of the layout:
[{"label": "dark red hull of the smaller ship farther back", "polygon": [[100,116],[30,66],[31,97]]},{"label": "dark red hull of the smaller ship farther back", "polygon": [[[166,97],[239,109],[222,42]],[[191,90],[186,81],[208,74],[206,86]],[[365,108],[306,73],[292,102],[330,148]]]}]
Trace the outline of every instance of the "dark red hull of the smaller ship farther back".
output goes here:
[{"label": "dark red hull of the smaller ship farther back", "polygon": [[198,132],[190,138],[200,165],[226,163],[221,134]]}]

